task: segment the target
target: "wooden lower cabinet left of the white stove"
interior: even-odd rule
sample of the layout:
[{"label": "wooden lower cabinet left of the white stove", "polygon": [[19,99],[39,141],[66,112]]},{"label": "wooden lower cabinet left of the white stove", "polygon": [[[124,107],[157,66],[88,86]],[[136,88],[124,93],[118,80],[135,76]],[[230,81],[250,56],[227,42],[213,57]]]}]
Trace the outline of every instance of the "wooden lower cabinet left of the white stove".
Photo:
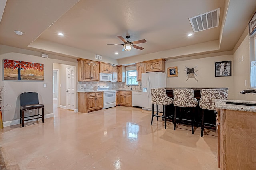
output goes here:
[{"label": "wooden lower cabinet left of the white stove", "polygon": [[78,111],[88,113],[103,108],[103,92],[79,92]]}]

